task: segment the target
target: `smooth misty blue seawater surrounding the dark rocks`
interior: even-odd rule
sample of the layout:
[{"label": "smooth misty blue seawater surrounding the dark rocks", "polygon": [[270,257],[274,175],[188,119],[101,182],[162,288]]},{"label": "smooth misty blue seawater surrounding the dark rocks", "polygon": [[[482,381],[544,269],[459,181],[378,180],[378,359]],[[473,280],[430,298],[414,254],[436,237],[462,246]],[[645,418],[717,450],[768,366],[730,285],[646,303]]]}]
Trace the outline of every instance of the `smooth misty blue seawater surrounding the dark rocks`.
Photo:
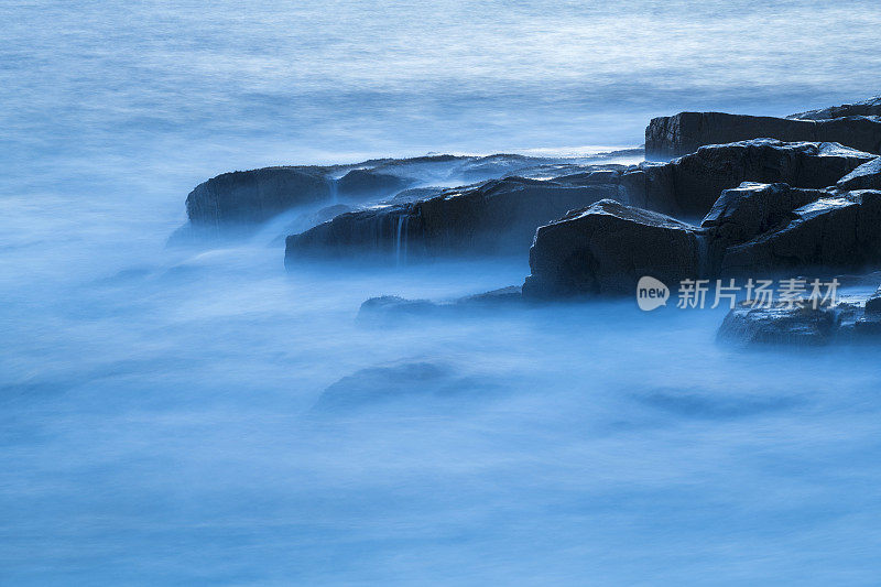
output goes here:
[{"label": "smooth misty blue seawater surrounding the dark rocks", "polygon": [[526,251],[165,246],[225,171],[867,98],[874,0],[276,4],[0,6],[0,583],[877,581],[877,349],[748,352],[632,300],[365,323]]}]

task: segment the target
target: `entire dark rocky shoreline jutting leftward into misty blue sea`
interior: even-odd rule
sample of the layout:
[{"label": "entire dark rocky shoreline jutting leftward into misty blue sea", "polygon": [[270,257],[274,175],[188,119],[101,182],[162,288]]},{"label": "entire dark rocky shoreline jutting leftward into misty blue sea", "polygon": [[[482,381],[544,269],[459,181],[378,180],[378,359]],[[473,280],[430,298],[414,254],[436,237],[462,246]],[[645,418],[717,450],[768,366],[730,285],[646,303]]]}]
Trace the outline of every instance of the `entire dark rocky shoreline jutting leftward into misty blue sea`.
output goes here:
[{"label": "entire dark rocky shoreline jutting leftward into misty blue sea", "polygon": [[[787,118],[655,118],[646,161],[627,161],[640,153],[433,155],[227,173],[188,195],[187,229],[222,235],[292,211],[312,215],[285,239],[289,267],[529,251],[522,287],[448,303],[387,296],[368,301],[365,316],[633,295],[644,275],[713,282],[881,267],[881,98]],[[719,338],[877,337],[875,300],[811,311],[740,305]]]}]

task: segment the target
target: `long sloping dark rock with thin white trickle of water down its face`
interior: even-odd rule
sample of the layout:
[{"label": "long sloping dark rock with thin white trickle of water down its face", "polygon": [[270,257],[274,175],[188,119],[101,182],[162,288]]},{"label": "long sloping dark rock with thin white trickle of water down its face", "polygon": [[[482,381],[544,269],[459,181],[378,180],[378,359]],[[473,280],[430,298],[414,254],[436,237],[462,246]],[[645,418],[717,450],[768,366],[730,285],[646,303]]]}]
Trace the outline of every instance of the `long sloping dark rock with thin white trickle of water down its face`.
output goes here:
[{"label": "long sloping dark rock with thin white trickle of water down its face", "polygon": [[619,197],[620,189],[590,178],[505,177],[424,200],[340,215],[289,237],[285,261],[379,256],[401,262],[515,253],[529,247],[539,226],[598,199]]}]

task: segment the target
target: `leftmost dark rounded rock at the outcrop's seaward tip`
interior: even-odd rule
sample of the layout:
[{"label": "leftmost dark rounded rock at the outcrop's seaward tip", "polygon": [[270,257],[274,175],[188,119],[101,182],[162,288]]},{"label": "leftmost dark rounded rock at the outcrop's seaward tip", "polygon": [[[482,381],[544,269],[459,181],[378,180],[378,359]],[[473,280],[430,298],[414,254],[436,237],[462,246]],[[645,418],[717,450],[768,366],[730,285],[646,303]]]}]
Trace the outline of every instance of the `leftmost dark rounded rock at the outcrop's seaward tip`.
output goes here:
[{"label": "leftmost dark rounded rock at the outcrop's seaward tip", "polygon": [[225,173],[197,185],[186,198],[186,211],[194,226],[222,228],[262,222],[329,196],[330,182],[318,167],[265,167]]}]

